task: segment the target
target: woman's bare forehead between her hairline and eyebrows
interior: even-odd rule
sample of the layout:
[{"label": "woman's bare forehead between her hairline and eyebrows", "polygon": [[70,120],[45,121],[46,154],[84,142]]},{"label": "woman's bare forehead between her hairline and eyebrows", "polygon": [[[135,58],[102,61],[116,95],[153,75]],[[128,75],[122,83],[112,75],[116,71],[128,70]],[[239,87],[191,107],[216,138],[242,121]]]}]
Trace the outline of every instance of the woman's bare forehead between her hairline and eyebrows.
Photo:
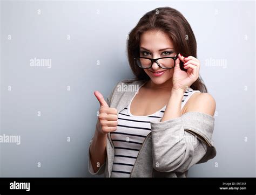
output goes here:
[{"label": "woman's bare forehead between her hairline and eyebrows", "polygon": [[161,48],[173,47],[173,42],[162,31],[146,31],[140,36],[140,47],[149,50],[160,50]]}]

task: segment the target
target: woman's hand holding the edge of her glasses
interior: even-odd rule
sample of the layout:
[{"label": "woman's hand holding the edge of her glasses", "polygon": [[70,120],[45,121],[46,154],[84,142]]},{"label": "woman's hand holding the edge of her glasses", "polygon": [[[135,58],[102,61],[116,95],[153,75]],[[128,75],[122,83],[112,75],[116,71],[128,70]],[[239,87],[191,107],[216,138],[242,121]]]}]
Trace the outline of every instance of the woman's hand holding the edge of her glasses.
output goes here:
[{"label": "woman's hand holding the edge of her glasses", "polygon": [[[179,67],[180,60],[184,62],[184,68],[187,72]],[[172,90],[182,90],[185,92],[186,87],[190,87],[199,77],[200,61],[193,56],[183,57],[178,54],[175,61],[175,67],[172,76]]]}]

